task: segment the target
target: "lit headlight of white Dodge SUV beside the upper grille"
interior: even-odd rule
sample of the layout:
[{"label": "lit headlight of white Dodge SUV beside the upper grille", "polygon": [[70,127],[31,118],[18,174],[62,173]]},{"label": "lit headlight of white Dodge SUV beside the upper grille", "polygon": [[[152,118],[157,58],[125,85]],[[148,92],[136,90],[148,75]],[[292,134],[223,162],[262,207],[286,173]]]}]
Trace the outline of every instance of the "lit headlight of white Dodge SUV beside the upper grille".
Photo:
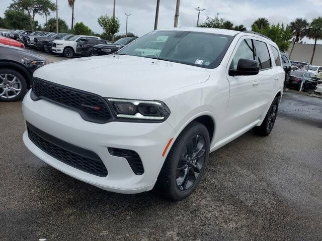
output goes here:
[{"label": "lit headlight of white Dodge SUV beside the upper grille", "polygon": [[158,100],[106,98],[118,118],[163,122],[170,115],[168,106]]}]

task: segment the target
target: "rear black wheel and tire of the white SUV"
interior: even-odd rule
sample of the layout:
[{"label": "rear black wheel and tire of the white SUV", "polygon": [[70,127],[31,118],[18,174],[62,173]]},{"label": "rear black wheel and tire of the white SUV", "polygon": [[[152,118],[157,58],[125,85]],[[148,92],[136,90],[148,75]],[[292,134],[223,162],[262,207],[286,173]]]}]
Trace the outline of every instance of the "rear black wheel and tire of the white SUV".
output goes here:
[{"label": "rear black wheel and tire of the white SUV", "polygon": [[265,119],[264,119],[262,125],[259,127],[254,127],[253,130],[256,135],[259,135],[259,136],[270,135],[271,131],[273,130],[275,121],[276,121],[278,104],[279,104],[278,97],[275,97],[273,99],[273,102],[272,102],[270,108],[267,111],[267,114],[265,116]]}]

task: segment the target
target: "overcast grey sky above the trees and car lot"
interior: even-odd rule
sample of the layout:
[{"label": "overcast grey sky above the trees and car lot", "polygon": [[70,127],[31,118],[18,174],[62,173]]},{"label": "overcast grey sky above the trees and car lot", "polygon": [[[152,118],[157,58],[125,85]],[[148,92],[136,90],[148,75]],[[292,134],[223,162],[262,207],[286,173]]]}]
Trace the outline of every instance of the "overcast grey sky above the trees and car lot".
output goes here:
[{"label": "overcast grey sky above the trees and car lot", "polygon": [[[54,2],[54,0],[51,0]],[[12,0],[0,0],[0,17],[12,3]],[[153,30],[156,0],[116,0],[116,17],[120,20],[120,32],[125,33],[125,13],[132,14],[128,17],[128,32],[138,36]],[[66,21],[70,27],[71,9],[67,0],[58,0],[59,18]],[[196,26],[198,12],[195,8],[206,9],[200,12],[199,23],[206,17],[214,17],[219,13],[219,18],[230,20],[234,25],[243,24],[250,30],[252,23],[259,17],[265,17],[271,24],[289,24],[295,18],[302,17],[311,21],[322,16],[322,0],[181,0],[179,13],[179,27]],[[176,0],[160,0],[158,29],[171,28],[174,24]],[[76,0],[74,17],[76,22],[83,22],[94,32],[102,33],[103,30],[97,23],[101,15],[113,15],[113,0]],[[52,13],[51,17],[56,14]],[[35,18],[44,24],[42,16]],[[312,43],[305,39],[304,41]]]}]

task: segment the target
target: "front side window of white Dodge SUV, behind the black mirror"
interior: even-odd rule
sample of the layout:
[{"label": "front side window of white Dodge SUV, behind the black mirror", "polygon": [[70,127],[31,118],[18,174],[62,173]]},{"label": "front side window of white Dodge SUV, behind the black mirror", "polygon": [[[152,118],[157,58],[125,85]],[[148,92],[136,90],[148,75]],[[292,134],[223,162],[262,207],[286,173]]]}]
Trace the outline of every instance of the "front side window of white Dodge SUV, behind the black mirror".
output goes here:
[{"label": "front side window of white Dodge SUV, behind the black mirror", "polygon": [[255,59],[255,52],[254,52],[254,46],[253,41],[251,39],[244,39],[240,42],[238,49],[233,56],[233,59],[230,63],[229,69],[237,69],[237,64],[239,59]]}]

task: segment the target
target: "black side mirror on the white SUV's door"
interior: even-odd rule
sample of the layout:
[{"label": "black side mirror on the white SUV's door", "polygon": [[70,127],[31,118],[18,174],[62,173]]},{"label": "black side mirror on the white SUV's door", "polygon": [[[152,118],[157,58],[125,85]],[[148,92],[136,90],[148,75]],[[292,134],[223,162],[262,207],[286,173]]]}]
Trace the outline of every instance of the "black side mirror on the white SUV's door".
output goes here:
[{"label": "black side mirror on the white SUV's door", "polygon": [[259,63],[253,59],[239,59],[237,69],[229,69],[230,76],[257,75],[260,70]]}]

